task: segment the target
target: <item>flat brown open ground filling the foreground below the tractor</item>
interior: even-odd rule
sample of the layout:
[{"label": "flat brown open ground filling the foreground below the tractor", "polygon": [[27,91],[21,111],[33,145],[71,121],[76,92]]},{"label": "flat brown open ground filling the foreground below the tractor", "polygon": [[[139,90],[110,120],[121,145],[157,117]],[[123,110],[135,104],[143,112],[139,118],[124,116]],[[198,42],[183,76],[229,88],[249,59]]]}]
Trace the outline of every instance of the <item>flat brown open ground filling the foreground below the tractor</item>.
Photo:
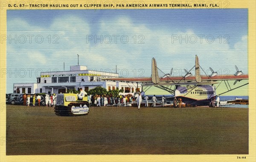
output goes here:
[{"label": "flat brown open ground filling the foreground below the tractor", "polygon": [[248,154],[248,109],[7,105],[6,154]]}]

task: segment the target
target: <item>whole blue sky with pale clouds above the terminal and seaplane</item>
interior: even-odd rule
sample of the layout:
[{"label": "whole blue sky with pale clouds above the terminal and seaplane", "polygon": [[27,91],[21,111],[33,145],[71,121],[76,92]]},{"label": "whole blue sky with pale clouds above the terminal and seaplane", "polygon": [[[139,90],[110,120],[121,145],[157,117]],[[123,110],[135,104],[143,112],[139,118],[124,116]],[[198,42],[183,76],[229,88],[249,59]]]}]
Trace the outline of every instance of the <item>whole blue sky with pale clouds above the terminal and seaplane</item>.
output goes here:
[{"label": "whole blue sky with pale clouds above the terminal and seaplane", "polygon": [[[7,92],[12,92],[13,83],[36,82],[37,69],[62,71],[65,62],[68,70],[77,64],[77,54],[79,64],[89,69],[112,70],[117,65],[127,69],[128,76],[135,75],[134,69],[136,76],[140,69],[142,76],[150,76],[152,57],[163,72],[175,68],[176,75],[184,75],[183,68],[194,66],[196,54],[205,70],[233,74],[237,65],[248,73],[247,14],[247,9],[8,10],[7,35],[16,35],[17,43],[7,40],[7,69],[25,69],[27,75],[7,75]],[[33,35],[31,43],[28,35]],[[44,38],[41,44],[35,41],[38,35]],[[95,35],[107,41],[111,36],[112,42],[88,40]],[[116,43],[113,35],[119,35]],[[121,42],[124,35],[128,43]],[[180,42],[180,36],[187,36],[188,42]],[[53,44],[56,38],[59,43]],[[27,69],[34,69],[32,76]]]}]

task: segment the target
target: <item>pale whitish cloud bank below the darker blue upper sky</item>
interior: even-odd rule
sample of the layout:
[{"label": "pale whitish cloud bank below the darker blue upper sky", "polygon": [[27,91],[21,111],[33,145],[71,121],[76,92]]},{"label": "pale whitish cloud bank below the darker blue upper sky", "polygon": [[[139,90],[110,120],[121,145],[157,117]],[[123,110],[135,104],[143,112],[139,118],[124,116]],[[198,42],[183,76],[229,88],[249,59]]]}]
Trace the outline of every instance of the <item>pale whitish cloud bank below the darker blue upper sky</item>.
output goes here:
[{"label": "pale whitish cloud bank below the darker blue upper sky", "polygon": [[[20,36],[41,35],[44,42],[38,44],[35,39],[32,43],[29,40],[25,44],[7,43],[7,66],[9,68],[39,67],[42,69],[63,69],[63,62],[66,68],[77,63],[87,65],[90,69],[100,70],[101,68],[128,69],[130,76],[134,76],[132,70],[140,68],[145,70],[144,76],[150,76],[151,59],[156,58],[157,65],[166,73],[173,68],[190,69],[194,66],[195,55],[199,56],[201,67],[212,67],[214,70],[220,68],[230,69],[235,72],[234,65],[247,73],[247,36],[243,36],[234,47],[230,44],[219,43],[218,38],[210,44],[205,36],[200,43],[200,34],[193,29],[186,32],[171,31],[169,28],[152,29],[147,24],[134,23],[128,16],[116,17],[113,20],[102,20],[99,29],[93,30],[90,22],[76,16],[57,17],[49,27],[43,24],[31,25],[25,20],[14,19],[8,21],[8,35]],[[114,43],[114,36],[118,34],[117,43]],[[51,37],[50,43],[49,38]],[[58,37],[58,44],[52,42]],[[87,35],[111,36],[112,42],[102,44],[94,43],[91,40],[87,43]],[[120,37],[127,35],[128,43],[122,43]],[[136,36],[133,38],[133,36]],[[185,41],[180,43],[179,39],[173,41],[173,35],[196,36],[195,44]],[[139,36],[141,36],[139,38]],[[28,38],[28,37],[27,37]],[[144,38],[144,39],[143,39]],[[144,44],[138,42],[143,39]],[[230,36],[230,39],[232,37]],[[193,39],[191,39],[193,41]],[[135,43],[134,43],[135,42]],[[46,67],[46,68],[45,68]],[[67,68],[69,69],[69,68]],[[224,70],[223,69],[223,70]],[[35,80],[35,78],[33,78]],[[26,78],[22,78],[26,82]],[[31,79],[30,79],[31,80]],[[17,78],[9,78],[10,83],[20,82]]]}]

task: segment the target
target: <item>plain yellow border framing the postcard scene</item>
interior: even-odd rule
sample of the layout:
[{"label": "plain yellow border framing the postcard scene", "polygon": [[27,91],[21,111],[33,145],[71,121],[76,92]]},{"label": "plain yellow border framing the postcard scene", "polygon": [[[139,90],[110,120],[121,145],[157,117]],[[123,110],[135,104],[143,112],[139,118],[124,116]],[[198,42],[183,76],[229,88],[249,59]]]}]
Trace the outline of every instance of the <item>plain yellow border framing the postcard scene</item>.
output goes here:
[{"label": "plain yellow border framing the postcard scene", "polygon": [[[29,2],[29,0],[0,0],[0,35],[6,35],[6,10],[10,9],[6,6],[7,3],[21,3],[21,2]],[[74,3],[105,3],[106,1],[82,1],[82,0],[74,0],[74,1],[67,1],[67,0],[47,0],[44,3],[52,3],[58,2],[59,4],[74,4]],[[34,1],[34,2],[42,2],[42,1]],[[187,2],[191,3],[191,0],[187,1],[134,1],[134,0],[113,0],[108,1],[109,4],[115,4],[117,2],[120,3],[180,3],[180,2]],[[193,2],[200,2],[200,1],[193,1]],[[72,155],[72,156],[6,156],[6,145],[5,145],[5,137],[6,137],[6,109],[5,108],[5,93],[6,93],[6,76],[1,76],[0,79],[0,103],[1,103],[1,112],[0,112],[0,137],[1,137],[1,145],[0,145],[0,162],[34,162],[34,161],[59,161],[59,162],[67,162],[67,161],[96,161],[96,162],[126,162],[126,161],[154,161],[154,162],[166,162],[166,161],[177,161],[177,162],[190,162],[190,161],[197,161],[197,162],[222,162],[222,161],[246,161],[246,162],[255,162],[256,161],[256,100],[255,100],[255,87],[256,87],[256,1],[255,0],[212,0],[212,1],[205,1],[207,2],[215,2],[221,3],[223,8],[228,5],[228,8],[248,8],[249,11],[249,23],[248,23],[248,53],[249,53],[249,98],[250,98],[250,109],[249,109],[249,155]],[[148,7],[153,8],[153,7]],[[169,8],[169,7],[168,7]],[[12,8],[14,9],[14,8]],[[21,9],[21,8],[18,8]],[[24,8],[30,9],[30,8]],[[35,8],[32,8],[35,9]],[[47,9],[47,8],[43,8]],[[57,8],[52,8],[57,9]],[[79,9],[79,8],[60,8],[60,9]],[[85,9],[85,8],[81,8]],[[87,9],[95,9],[95,8],[87,8]],[[101,9],[101,8],[97,8]],[[122,9],[122,8],[117,8]],[[137,8],[129,8],[129,9],[139,9]],[[172,8],[174,9],[174,8]],[[179,9],[179,8],[176,8]],[[239,31],[238,31],[239,32]],[[0,69],[1,75],[4,73],[6,68],[6,42],[0,44]],[[236,159],[236,156],[246,156],[246,159]]]}]

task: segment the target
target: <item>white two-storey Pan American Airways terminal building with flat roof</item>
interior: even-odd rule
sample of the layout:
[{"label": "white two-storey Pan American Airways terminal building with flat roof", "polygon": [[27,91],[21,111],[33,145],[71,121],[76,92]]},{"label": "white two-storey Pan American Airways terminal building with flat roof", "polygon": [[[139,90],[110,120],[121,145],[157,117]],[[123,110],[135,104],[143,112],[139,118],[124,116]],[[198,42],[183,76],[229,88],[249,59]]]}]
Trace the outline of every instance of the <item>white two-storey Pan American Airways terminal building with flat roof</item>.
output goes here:
[{"label": "white two-storey Pan American Airways terminal building with flat roof", "polygon": [[41,72],[37,83],[15,83],[14,93],[65,93],[67,89],[79,89],[89,91],[95,87],[103,87],[107,90],[116,88],[124,89],[125,93],[140,92],[141,84],[134,82],[105,81],[102,78],[119,77],[118,73],[108,73],[95,70],[87,70],[87,66],[70,66],[70,71]]}]

